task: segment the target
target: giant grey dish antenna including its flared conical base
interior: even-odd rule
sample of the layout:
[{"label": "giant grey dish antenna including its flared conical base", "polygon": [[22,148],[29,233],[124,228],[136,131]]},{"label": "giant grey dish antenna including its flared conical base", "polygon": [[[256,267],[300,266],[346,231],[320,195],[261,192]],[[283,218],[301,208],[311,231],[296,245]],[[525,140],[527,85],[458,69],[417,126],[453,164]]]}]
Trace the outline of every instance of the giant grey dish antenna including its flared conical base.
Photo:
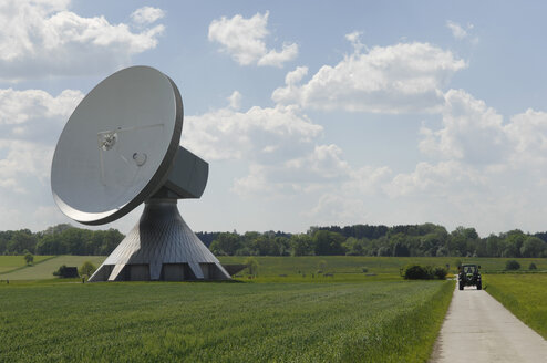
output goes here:
[{"label": "giant grey dish antenna including its flared conical base", "polygon": [[199,198],[208,178],[208,164],[179,146],[182,129],[177,86],[148,66],[106,77],[70,116],[51,166],[61,211],[103,225],[145,203],[140,222],[90,281],[229,279],[176,206]]}]

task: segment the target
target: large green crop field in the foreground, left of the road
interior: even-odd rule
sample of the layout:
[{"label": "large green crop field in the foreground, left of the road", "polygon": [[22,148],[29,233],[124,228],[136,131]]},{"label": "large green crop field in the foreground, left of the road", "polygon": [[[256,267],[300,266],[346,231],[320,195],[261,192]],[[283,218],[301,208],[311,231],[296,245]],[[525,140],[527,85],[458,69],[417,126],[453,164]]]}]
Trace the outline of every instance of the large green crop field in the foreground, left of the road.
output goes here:
[{"label": "large green crop field in the foreground, left of the road", "polygon": [[1,284],[0,360],[424,362],[453,290],[403,280]]}]

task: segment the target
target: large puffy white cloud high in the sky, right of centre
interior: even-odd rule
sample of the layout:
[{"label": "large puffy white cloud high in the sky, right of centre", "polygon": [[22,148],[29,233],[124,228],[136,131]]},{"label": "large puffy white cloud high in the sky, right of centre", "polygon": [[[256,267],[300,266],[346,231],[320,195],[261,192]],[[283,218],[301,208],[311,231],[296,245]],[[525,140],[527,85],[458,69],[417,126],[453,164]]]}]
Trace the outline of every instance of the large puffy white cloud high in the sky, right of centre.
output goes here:
[{"label": "large puffy white cloud high in the sky, right of centre", "polygon": [[[347,37],[354,53],[337,65],[323,65],[305,84],[305,69],[287,76],[272,100],[317,110],[401,114],[438,112],[443,87],[466,63],[429,43],[399,43],[362,52],[358,34]],[[295,73],[296,72],[296,73]],[[293,74],[298,76],[295,79]]]}]

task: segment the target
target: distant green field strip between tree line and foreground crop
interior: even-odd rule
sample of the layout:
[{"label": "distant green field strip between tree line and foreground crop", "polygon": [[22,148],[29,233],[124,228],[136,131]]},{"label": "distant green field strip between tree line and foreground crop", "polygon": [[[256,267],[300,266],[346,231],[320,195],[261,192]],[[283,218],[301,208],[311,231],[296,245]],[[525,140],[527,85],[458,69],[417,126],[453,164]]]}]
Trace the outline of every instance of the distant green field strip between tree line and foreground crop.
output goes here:
[{"label": "distant green field strip between tree line and foreground crop", "polygon": [[[35,256],[33,267],[24,267],[22,256],[0,256],[0,280],[43,280],[51,279],[53,271],[61,265],[80,267],[84,261],[91,261],[99,267],[105,256]],[[220,256],[221,263],[244,263],[245,256]],[[476,262],[483,272],[499,271],[505,268],[506,258],[456,258],[456,257],[363,257],[363,256],[306,256],[306,257],[254,257],[258,261],[257,281],[268,282],[321,282],[321,281],[361,281],[389,279],[399,276],[399,269],[409,263],[431,266],[450,265],[451,271],[456,272],[456,261]],[[45,261],[43,261],[45,260]],[[538,270],[547,270],[547,259],[516,259],[525,271],[530,262]],[[40,262],[43,261],[43,262]],[[324,262],[324,263],[322,263]],[[317,271],[324,265],[323,272],[333,273],[333,278],[319,279]],[[363,273],[368,270],[368,277]],[[12,271],[7,273],[8,271]],[[245,274],[246,271],[241,272]],[[306,277],[303,277],[306,274]],[[313,274],[313,278],[312,278]],[[351,274],[351,276],[350,276]],[[376,274],[376,277],[371,277]],[[286,277],[285,277],[286,276]]]}]

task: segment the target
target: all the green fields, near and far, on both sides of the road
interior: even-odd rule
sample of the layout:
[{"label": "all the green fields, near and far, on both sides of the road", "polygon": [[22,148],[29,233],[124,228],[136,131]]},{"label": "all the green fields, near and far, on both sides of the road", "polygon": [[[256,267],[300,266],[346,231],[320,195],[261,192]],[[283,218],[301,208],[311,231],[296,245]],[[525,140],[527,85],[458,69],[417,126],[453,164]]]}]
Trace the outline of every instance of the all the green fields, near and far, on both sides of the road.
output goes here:
[{"label": "all the green fields, near and far, on both sides of the road", "polygon": [[[0,257],[0,361],[426,362],[454,281],[404,281],[409,263],[507,259],[255,257],[240,282],[78,283],[61,265],[105,257]],[[17,262],[18,260],[21,260]],[[220,257],[244,263],[247,257]],[[518,259],[524,268],[546,259]],[[333,276],[318,273],[319,269]],[[363,268],[367,272],[363,272]],[[242,282],[241,282],[242,281]],[[547,274],[488,274],[487,291],[547,335]]]}]

